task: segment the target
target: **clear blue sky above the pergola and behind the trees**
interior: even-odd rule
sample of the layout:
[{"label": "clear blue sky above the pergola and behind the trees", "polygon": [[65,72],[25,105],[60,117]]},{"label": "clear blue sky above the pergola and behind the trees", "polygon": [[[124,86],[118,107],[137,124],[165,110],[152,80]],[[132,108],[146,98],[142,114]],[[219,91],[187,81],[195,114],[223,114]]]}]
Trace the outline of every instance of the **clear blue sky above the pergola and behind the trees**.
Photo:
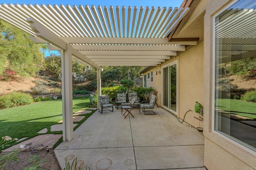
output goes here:
[{"label": "clear blue sky above the pergola and behind the trees", "polygon": [[[180,7],[183,0],[2,0],[5,4],[69,4],[72,5],[95,5],[95,6],[160,6],[160,7]],[[50,51],[56,55],[60,55],[58,51]],[[45,56],[50,56],[46,51]]]}]

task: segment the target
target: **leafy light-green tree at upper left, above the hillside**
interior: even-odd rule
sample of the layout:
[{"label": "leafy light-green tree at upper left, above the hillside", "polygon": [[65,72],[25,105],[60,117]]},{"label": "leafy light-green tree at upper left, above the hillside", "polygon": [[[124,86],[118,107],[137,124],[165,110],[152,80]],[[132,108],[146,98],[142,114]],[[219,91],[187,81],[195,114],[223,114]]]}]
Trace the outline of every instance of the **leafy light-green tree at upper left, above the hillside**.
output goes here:
[{"label": "leafy light-green tree at upper left, above the hillside", "polygon": [[0,21],[0,73],[8,62],[10,69],[22,76],[35,75],[37,65],[44,62],[40,45],[30,40],[30,35]]}]

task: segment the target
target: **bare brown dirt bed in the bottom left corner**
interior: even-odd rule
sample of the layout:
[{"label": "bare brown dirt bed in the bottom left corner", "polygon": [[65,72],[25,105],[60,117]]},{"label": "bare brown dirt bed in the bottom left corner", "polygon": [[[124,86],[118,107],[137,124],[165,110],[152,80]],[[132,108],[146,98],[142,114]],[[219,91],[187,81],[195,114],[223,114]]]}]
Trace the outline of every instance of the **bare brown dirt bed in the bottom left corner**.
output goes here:
[{"label": "bare brown dirt bed in the bottom left corner", "polygon": [[[1,153],[1,155],[4,154]],[[36,153],[30,151],[22,151],[18,154],[18,161],[8,162],[5,166],[6,170],[21,170],[24,167],[32,166],[32,163],[28,163],[29,159],[33,157],[34,154],[39,156],[38,160],[46,160],[40,163],[40,168],[44,170],[61,170],[54,151],[50,148],[48,151],[46,149],[37,150]]]}]

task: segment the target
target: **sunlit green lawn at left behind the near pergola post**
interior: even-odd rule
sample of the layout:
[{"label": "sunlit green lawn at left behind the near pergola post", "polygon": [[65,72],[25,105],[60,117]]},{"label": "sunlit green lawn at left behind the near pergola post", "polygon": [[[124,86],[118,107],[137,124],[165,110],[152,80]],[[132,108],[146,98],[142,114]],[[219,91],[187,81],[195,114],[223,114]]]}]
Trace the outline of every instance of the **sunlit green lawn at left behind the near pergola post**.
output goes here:
[{"label": "sunlit green lawn at left behind the near pergola post", "polygon": [[[82,108],[87,109],[89,105],[89,96],[73,97],[73,113]],[[87,118],[84,118],[84,121]],[[60,120],[62,120],[61,99],[2,109],[0,110],[0,137],[32,138],[37,136],[37,132],[43,128],[48,128],[50,132],[50,127]]]}]

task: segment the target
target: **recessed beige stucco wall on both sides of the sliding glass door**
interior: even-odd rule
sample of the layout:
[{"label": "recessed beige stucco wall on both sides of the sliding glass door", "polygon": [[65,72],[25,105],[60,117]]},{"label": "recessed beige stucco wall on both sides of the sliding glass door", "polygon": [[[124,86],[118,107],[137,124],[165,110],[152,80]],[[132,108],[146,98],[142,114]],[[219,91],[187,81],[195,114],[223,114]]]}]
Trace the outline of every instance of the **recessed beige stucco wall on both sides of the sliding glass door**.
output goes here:
[{"label": "recessed beige stucco wall on both sides of the sliding glass door", "polygon": [[[156,71],[161,70],[164,65],[168,65],[172,61],[178,61],[178,110],[177,116],[181,119],[188,109],[193,110],[195,101],[203,103],[204,96],[204,42],[200,41],[197,45],[193,45],[179,53],[177,56],[172,57],[168,61],[153,67],[146,71],[144,74],[153,71],[153,83],[150,83],[150,79],[147,80],[147,87],[154,87],[158,91],[158,105],[162,106],[162,74],[155,75]],[[189,112],[190,113],[190,112]],[[185,121],[190,123],[189,113],[185,117]],[[191,125],[193,127],[203,127],[203,122],[198,121],[194,117],[198,117],[198,113],[193,112],[191,115]]]}]

